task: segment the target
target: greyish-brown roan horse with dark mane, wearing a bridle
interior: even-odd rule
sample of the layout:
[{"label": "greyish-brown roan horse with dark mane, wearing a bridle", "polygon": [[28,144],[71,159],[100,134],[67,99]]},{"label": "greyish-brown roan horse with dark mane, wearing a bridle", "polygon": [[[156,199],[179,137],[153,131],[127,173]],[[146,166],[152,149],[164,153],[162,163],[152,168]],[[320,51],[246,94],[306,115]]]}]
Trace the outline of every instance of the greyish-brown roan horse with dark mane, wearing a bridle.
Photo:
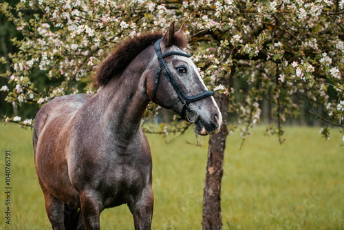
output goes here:
[{"label": "greyish-brown roan horse with dark mane, wearing a bridle", "polygon": [[[150,101],[219,132],[222,115],[175,32],[120,43],[92,79],[96,94],[54,98],[36,114],[34,162],[52,229],[100,229],[103,209],[127,204],[135,229],[150,229],[152,160],[140,121]],[[166,77],[164,77],[166,76]]]}]

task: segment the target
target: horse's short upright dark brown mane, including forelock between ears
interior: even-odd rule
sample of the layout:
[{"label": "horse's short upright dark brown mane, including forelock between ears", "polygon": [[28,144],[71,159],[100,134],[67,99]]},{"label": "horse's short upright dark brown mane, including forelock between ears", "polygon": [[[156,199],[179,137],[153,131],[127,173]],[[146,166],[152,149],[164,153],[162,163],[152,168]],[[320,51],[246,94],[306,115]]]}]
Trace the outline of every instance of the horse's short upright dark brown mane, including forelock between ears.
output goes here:
[{"label": "horse's short upright dark brown mane, including forelock between ears", "polygon": [[[111,52],[111,54],[99,64],[96,74],[92,76],[94,84],[98,86],[105,85],[107,80],[114,77],[116,73],[125,70],[127,65],[129,65],[140,52],[149,45],[153,45],[153,43],[162,36],[164,36],[164,33],[161,31],[147,32],[123,41],[117,46],[114,52]],[[188,40],[186,36],[181,36],[178,33],[174,34],[173,45],[185,48],[187,43]]]}]

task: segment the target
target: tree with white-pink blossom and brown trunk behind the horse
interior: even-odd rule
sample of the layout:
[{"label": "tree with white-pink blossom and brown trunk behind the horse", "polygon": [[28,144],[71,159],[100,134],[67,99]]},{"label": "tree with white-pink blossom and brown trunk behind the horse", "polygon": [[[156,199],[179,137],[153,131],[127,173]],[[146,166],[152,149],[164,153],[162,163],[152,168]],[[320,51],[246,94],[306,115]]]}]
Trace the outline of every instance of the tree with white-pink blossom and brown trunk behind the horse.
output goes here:
[{"label": "tree with white-pink blossom and brown trunk behind the horse", "polygon": [[[312,116],[324,121],[325,138],[330,137],[329,125],[344,132],[344,0],[21,0],[15,8],[2,3],[1,12],[24,37],[12,39],[19,52],[0,59],[12,67],[1,74],[9,81],[0,91],[13,106],[42,106],[64,94],[92,94],[97,89],[90,76],[117,43],[167,28],[171,21],[186,23],[189,52],[206,85],[217,92],[225,121],[209,142],[204,229],[222,226],[224,144],[236,126],[227,130],[229,113],[237,114],[243,140],[259,122],[263,99],[272,103],[275,119],[266,132],[277,134],[281,143],[283,123],[298,116],[304,103]],[[35,72],[60,83],[39,89],[30,80]],[[157,109],[150,105],[145,116]],[[32,118],[3,118],[23,126],[33,123]],[[186,126],[164,126],[160,132]]]}]

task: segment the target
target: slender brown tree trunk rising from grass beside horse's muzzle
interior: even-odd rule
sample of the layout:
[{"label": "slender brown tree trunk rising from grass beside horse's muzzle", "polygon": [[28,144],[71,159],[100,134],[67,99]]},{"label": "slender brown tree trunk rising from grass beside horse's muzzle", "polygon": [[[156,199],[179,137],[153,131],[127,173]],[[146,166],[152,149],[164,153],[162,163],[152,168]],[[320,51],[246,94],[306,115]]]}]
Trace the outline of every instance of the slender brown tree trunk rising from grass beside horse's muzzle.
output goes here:
[{"label": "slender brown tree trunk rising from grass beside horse's muzzle", "polygon": [[[225,86],[232,85],[232,75],[222,79],[227,81]],[[229,96],[226,94],[214,95],[215,101],[222,113],[222,127],[218,134],[213,134],[209,138],[208,162],[206,164],[206,178],[204,180],[203,194],[203,221],[202,227],[208,229],[222,229],[221,216],[221,180],[224,165],[224,149],[226,148],[227,138],[227,117]]]}]

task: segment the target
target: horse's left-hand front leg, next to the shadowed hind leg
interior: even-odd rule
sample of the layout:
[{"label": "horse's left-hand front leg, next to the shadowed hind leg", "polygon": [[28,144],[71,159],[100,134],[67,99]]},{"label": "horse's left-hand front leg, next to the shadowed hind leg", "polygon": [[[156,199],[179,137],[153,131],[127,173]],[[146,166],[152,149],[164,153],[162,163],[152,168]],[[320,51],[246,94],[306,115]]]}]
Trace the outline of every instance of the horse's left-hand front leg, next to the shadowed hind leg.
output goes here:
[{"label": "horse's left-hand front leg, next to the shadowed hind leg", "polygon": [[84,191],[80,193],[80,205],[86,230],[100,229],[100,213],[103,204],[97,196],[96,191]]}]

